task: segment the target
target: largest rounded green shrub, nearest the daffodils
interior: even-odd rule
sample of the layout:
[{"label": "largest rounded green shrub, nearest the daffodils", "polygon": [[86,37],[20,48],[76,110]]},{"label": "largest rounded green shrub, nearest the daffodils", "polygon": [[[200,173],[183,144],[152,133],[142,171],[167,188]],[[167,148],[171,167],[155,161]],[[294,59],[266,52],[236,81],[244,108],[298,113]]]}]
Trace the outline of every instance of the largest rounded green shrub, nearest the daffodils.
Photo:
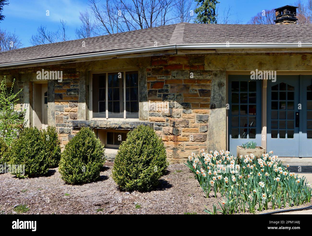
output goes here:
[{"label": "largest rounded green shrub, nearest the daffodils", "polygon": [[163,142],[153,128],[140,125],[119,147],[112,176],[122,190],[149,191],[158,185],[167,166]]}]

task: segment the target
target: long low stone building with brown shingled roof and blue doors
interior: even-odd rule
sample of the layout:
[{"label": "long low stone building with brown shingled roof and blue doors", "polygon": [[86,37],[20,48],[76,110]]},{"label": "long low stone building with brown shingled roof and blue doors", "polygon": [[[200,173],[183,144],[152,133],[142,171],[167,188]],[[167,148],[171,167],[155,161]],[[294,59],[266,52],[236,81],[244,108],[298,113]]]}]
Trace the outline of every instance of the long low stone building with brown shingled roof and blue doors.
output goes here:
[{"label": "long low stone building with brown shingled roof and blue doors", "polygon": [[27,126],[55,126],[62,147],[87,126],[113,159],[144,124],[170,163],[247,141],[312,157],[312,25],[289,7],[276,25],[179,23],[2,52],[0,78],[23,89]]}]

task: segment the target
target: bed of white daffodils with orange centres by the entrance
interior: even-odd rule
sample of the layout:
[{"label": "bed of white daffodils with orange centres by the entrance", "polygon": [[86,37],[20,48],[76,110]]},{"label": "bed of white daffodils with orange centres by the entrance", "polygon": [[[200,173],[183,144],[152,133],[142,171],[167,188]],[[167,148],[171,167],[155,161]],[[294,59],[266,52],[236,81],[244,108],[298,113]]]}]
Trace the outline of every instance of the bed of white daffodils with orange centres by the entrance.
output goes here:
[{"label": "bed of white daffodils with orange centres by the entrance", "polygon": [[[230,152],[192,153],[186,165],[193,171],[204,194],[220,193],[223,200],[210,214],[250,213],[297,206],[311,200],[312,188],[305,178],[289,172],[273,152],[234,158]],[[238,163],[240,159],[240,163]]]}]

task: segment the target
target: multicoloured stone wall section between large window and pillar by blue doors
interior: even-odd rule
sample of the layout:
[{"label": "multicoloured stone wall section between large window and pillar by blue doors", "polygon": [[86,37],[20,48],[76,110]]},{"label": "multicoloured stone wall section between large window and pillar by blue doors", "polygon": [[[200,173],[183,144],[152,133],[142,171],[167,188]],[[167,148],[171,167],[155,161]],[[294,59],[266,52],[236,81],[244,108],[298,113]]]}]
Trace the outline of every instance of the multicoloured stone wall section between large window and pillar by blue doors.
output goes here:
[{"label": "multicoloured stone wall section between large window and pillar by blue doors", "polygon": [[146,70],[149,122],[162,138],[170,163],[207,149],[212,71],[205,58],[155,56]]}]

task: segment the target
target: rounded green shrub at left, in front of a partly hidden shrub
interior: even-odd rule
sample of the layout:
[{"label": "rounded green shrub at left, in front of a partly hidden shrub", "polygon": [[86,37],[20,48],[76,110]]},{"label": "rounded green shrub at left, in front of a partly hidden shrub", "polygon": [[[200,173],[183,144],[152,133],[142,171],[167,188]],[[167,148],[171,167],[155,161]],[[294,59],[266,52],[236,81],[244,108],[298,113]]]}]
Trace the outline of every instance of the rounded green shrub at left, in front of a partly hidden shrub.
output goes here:
[{"label": "rounded green shrub at left, in front of a partly hidden shrub", "polygon": [[[42,133],[37,128],[24,128],[12,143],[11,165],[25,165],[25,176],[41,176],[49,170],[48,153]],[[14,173],[22,177],[22,173]]]}]

